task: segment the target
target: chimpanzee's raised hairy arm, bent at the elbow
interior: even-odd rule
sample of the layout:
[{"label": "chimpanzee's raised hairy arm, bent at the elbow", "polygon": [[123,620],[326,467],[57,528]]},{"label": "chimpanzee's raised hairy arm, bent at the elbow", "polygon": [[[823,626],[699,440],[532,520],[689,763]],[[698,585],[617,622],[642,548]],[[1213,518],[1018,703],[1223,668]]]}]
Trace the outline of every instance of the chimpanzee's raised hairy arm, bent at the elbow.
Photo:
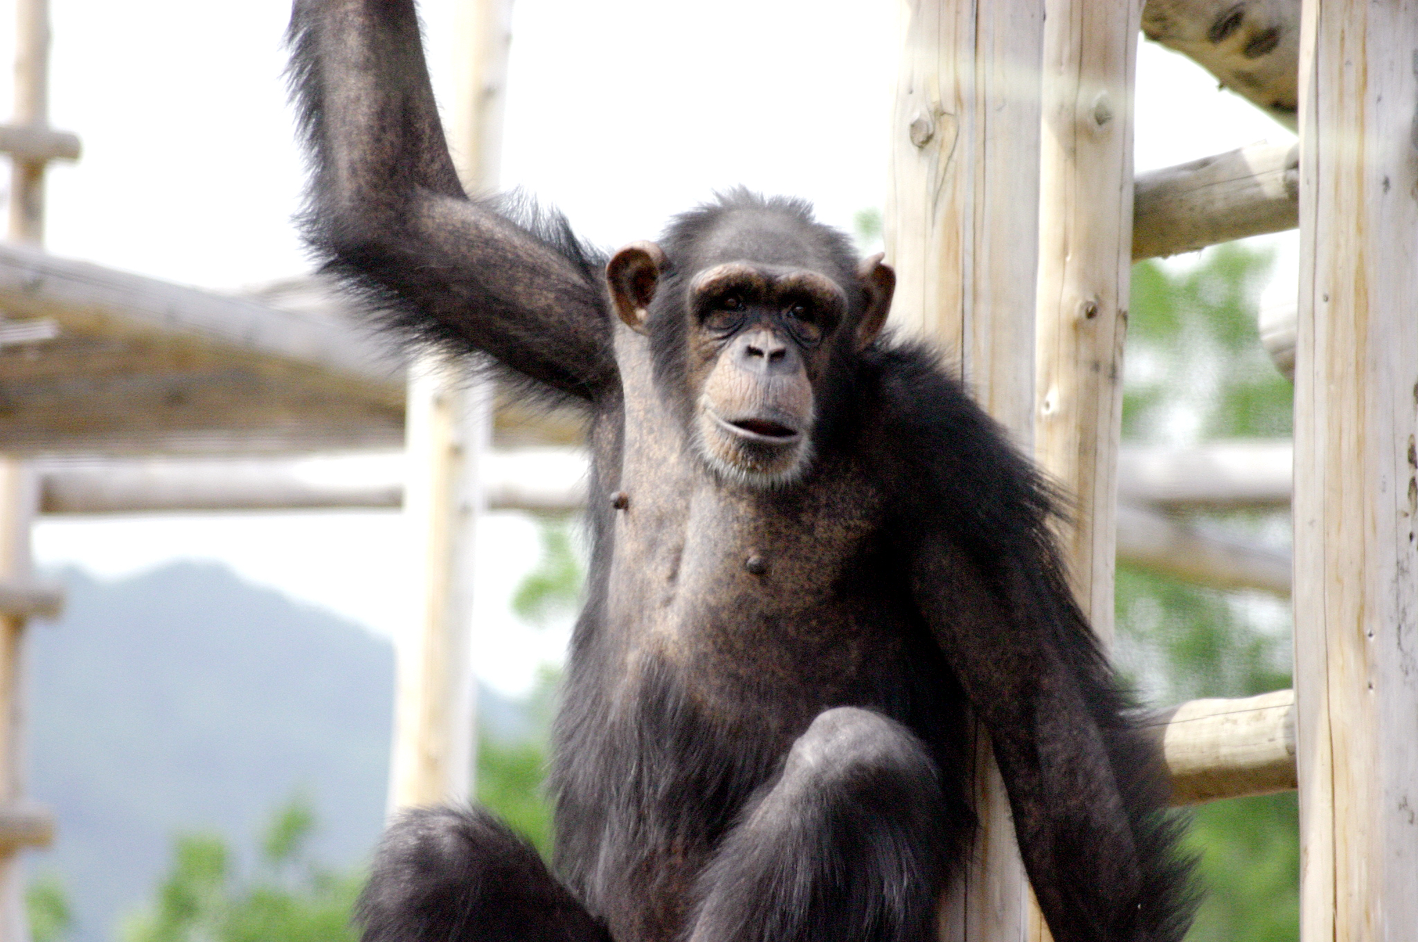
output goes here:
[{"label": "chimpanzee's raised hairy arm, bent at the elbow", "polygon": [[520,226],[464,194],[414,1],[296,0],[289,44],[303,230],[329,268],[420,339],[593,399],[614,376],[603,264],[559,217]]}]

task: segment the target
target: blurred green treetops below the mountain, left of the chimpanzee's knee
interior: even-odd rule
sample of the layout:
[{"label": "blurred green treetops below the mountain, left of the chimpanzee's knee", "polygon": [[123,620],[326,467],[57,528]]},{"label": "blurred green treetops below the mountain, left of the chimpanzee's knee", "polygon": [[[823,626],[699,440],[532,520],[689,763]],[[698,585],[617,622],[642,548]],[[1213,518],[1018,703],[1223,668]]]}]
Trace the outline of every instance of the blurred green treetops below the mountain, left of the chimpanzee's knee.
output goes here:
[{"label": "blurred green treetops below the mountain, left of the chimpanzee's knee", "polygon": [[363,877],[329,871],[305,844],[315,814],[303,799],[281,809],[242,878],[225,840],[184,834],[155,902],[123,926],[125,942],[354,942],[350,911]]}]

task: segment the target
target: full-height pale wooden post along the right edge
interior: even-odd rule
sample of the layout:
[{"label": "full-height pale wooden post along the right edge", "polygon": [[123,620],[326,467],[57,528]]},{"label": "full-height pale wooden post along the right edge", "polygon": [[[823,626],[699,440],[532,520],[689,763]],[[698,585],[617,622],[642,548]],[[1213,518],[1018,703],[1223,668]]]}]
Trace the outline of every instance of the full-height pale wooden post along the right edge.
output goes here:
[{"label": "full-height pale wooden post along the right edge", "polygon": [[1418,3],[1306,0],[1295,362],[1300,939],[1418,931]]}]

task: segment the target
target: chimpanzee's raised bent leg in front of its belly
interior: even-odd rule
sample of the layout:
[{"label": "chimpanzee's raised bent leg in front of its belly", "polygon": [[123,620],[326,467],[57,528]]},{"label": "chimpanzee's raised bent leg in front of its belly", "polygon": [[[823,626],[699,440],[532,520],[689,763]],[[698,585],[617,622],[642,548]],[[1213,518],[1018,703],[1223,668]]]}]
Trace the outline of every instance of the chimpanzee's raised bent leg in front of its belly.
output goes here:
[{"label": "chimpanzee's raised bent leg in front of its belly", "polygon": [[885,716],[821,714],[706,870],[691,942],[925,942],[950,853],[934,763]]}]

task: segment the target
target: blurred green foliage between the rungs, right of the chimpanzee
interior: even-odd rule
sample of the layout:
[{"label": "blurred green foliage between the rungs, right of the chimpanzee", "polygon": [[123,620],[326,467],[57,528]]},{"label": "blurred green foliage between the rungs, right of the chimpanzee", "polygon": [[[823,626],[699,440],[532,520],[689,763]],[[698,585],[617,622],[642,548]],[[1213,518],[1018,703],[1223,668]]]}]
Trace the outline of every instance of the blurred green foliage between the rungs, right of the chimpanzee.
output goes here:
[{"label": "blurred green foliage between the rungs, right of the chimpanzee", "polygon": [[[1190,268],[1133,268],[1123,434],[1133,440],[1285,437],[1292,390],[1255,332],[1255,295],[1271,257],[1239,244]],[[1207,522],[1263,538],[1288,521],[1265,514]],[[1153,699],[1246,697],[1290,685],[1288,610],[1119,567],[1119,657]],[[1188,837],[1207,901],[1190,942],[1290,942],[1299,935],[1296,796],[1201,806]]]}]

